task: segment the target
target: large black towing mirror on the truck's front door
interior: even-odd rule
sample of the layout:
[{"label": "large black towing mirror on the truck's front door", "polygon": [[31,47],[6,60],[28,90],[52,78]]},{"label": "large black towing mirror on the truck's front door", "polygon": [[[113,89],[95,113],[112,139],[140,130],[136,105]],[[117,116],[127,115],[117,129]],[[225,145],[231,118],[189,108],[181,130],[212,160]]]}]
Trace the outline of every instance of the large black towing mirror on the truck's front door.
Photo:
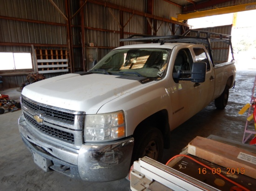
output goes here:
[{"label": "large black towing mirror on the truck's front door", "polygon": [[194,62],[192,65],[191,82],[201,83],[205,81],[206,63]]}]

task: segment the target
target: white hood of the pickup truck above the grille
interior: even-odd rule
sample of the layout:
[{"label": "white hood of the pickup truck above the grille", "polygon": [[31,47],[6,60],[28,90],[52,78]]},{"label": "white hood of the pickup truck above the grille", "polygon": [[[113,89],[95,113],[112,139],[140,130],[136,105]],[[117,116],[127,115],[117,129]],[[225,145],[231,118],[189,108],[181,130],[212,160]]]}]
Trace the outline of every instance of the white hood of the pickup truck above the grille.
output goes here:
[{"label": "white hood of the pickup truck above the grille", "polygon": [[143,86],[137,80],[104,74],[66,74],[32,83],[22,95],[36,102],[95,114],[105,103]]}]

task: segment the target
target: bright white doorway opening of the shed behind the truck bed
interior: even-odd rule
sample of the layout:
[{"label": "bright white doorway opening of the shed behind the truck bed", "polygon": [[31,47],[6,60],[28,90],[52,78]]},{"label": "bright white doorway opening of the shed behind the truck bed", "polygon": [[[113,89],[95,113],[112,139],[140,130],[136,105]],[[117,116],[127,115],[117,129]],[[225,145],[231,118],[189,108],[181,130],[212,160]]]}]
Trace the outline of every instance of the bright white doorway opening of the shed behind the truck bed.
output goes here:
[{"label": "bright white doorway opening of the shed behind the truck bed", "polygon": [[[224,26],[231,25],[236,68],[239,70],[255,70],[256,23],[253,22],[252,18],[256,18],[256,10],[189,19],[188,24],[191,25],[192,29],[223,26],[223,31],[225,32],[227,32],[227,29]],[[230,55],[229,59],[232,59]]]}]

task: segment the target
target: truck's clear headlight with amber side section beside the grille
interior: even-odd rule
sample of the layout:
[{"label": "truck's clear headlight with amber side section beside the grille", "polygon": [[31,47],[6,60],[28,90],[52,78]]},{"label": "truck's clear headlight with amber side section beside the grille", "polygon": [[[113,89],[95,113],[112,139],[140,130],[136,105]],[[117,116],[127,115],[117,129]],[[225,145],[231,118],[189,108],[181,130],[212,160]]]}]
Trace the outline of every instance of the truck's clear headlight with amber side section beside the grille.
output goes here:
[{"label": "truck's clear headlight with amber side section beside the grille", "polygon": [[125,123],[122,111],[108,114],[86,115],[85,141],[106,141],[125,136]]}]

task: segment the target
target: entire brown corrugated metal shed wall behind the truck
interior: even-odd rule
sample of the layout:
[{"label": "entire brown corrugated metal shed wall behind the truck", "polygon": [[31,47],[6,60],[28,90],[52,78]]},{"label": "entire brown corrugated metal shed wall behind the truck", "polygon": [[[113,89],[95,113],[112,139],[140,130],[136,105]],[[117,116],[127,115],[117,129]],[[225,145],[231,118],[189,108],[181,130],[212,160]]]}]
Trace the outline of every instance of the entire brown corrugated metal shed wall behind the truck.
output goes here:
[{"label": "entire brown corrugated metal shed wall behind the truck", "polygon": [[[61,12],[67,16],[70,9],[70,18],[77,12],[85,1],[80,0],[53,0]],[[122,7],[122,11],[115,7],[108,7],[99,2],[106,2]],[[84,70],[83,64],[86,47],[94,43],[97,57],[101,59],[113,48],[120,45],[121,28],[119,25],[123,16],[123,37],[131,34],[146,34],[147,19],[145,15],[132,13],[146,13],[147,0],[88,0],[78,13],[68,21],[54,7],[49,0],[2,0],[0,6],[0,51],[33,52],[34,49],[65,49],[71,47],[68,53],[73,55],[72,66],[74,71]],[[69,4],[69,6],[67,6]],[[126,11],[125,9],[128,9]],[[181,13],[180,6],[175,6],[165,0],[154,0],[154,13],[157,17],[170,19]],[[84,20],[84,21],[83,21]],[[179,33],[181,30],[176,24],[156,19],[157,35],[169,35],[170,29]],[[70,31],[68,30],[70,27]],[[82,28],[84,27],[84,28]],[[68,41],[70,33],[71,43]],[[176,34],[177,34],[176,33]],[[82,36],[84,34],[84,36]],[[83,38],[84,37],[84,38]],[[84,42],[82,42],[84,39]],[[134,43],[125,43],[134,44]],[[82,48],[84,46],[84,49]],[[19,73],[17,73],[19,72]],[[47,78],[64,73],[44,74]],[[4,88],[19,87],[26,80],[27,72],[0,71],[3,76]]]}]

